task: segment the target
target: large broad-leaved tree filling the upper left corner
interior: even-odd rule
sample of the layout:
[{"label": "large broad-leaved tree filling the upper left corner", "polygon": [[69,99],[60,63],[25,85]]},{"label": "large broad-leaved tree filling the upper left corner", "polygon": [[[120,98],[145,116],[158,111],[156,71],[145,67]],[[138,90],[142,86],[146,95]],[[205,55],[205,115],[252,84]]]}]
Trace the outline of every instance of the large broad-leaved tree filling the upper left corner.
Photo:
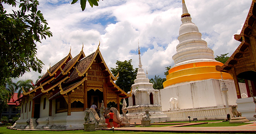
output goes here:
[{"label": "large broad-leaved tree filling the upper left corner", "polygon": [[[17,4],[19,9],[7,14],[4,6]],[[0,1],[0,85],[5,78],[16,78],[30,69],[41,73],[43,62],[36,57],[36,42],[52,32],[38,5],[37,0]]]}]

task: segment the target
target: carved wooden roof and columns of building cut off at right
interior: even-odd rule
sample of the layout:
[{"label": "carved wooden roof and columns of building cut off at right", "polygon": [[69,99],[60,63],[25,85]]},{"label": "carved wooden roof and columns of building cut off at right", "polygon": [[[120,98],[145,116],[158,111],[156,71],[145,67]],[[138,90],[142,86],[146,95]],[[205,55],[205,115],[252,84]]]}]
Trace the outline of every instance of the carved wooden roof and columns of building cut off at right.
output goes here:
[{"label": "carved wooden roof and columns of building cut off at right", "polygon": [[235,40],[240,41],[241,44],[223,66],[216,66],[217,71],[227,72],[234,78],[237,98],[241,98],[237,78],[245,80],[248,97],[256,95],[256,6],[254,4],[255,0],[251,4],[241,33],[234,35]]}]

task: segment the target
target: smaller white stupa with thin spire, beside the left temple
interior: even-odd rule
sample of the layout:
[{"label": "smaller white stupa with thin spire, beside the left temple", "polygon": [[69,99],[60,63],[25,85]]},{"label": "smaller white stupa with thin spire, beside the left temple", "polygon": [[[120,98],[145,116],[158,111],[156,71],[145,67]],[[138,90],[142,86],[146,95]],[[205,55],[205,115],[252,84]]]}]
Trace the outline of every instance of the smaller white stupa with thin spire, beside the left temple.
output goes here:
[{"label": "smaller white stupa with thin spire, beside the left temple", "polygon": [[142,68],[140,54],[139,50],[139,68],[132,85],[132,97],[129,97],[127,117],[131,123],[140,123],[145,110],[148,109],[151,115],[151,123],[170,121],[170,117],[167,117],[167,114],[161,111],[159,90],[155,90],[153,84],[149,83],[149,79]]}]

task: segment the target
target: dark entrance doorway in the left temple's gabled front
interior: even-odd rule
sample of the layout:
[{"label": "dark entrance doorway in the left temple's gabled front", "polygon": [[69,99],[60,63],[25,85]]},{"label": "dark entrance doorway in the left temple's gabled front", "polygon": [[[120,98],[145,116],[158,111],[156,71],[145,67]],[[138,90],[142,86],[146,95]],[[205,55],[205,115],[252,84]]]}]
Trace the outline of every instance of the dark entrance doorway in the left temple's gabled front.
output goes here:
[{"label": "dark entrance doorway in the left temple's gabled front", "polygon": [[[87,102],[88,102],[88,108],[91,107],[91,105],[93,105],[93,102],[94,104],[96,105],[96,107],[100,108],[101,106],[101,102],[103,100],[103,92],[101,92],[100,90],[96,89],[96,90],[89,90],[87,92]],[[98,111],[97,111],[98,112]]]}]

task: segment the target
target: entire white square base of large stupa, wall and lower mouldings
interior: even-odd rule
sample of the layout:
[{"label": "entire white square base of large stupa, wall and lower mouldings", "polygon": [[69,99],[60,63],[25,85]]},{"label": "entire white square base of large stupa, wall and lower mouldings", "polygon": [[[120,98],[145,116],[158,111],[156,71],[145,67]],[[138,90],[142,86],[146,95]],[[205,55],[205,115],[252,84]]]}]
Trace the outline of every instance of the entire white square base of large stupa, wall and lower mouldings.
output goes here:
[{"label": "entire white square base of large stupa, wall and lower mouldings", "polygon": [[[225,83],[228,88],[227,98],[229,106],[237,105],[234,81],[225,80]],[[225,119],[227,118],[227,114],[232,115],[232,113],[225,108],[225,95],[220,90],[220,85],[221,80],[208,79],[179,83],[161,89],[160,102],[162,111],[166,113],[171,120],[188,120],[187,116],[198,118],[198,120]],[[241,94],[247,94],[245,84],[239,83],[239,86]],[[171,105],[169,100],[172,97],[178,99],[178,110],[170,110]]]}]

